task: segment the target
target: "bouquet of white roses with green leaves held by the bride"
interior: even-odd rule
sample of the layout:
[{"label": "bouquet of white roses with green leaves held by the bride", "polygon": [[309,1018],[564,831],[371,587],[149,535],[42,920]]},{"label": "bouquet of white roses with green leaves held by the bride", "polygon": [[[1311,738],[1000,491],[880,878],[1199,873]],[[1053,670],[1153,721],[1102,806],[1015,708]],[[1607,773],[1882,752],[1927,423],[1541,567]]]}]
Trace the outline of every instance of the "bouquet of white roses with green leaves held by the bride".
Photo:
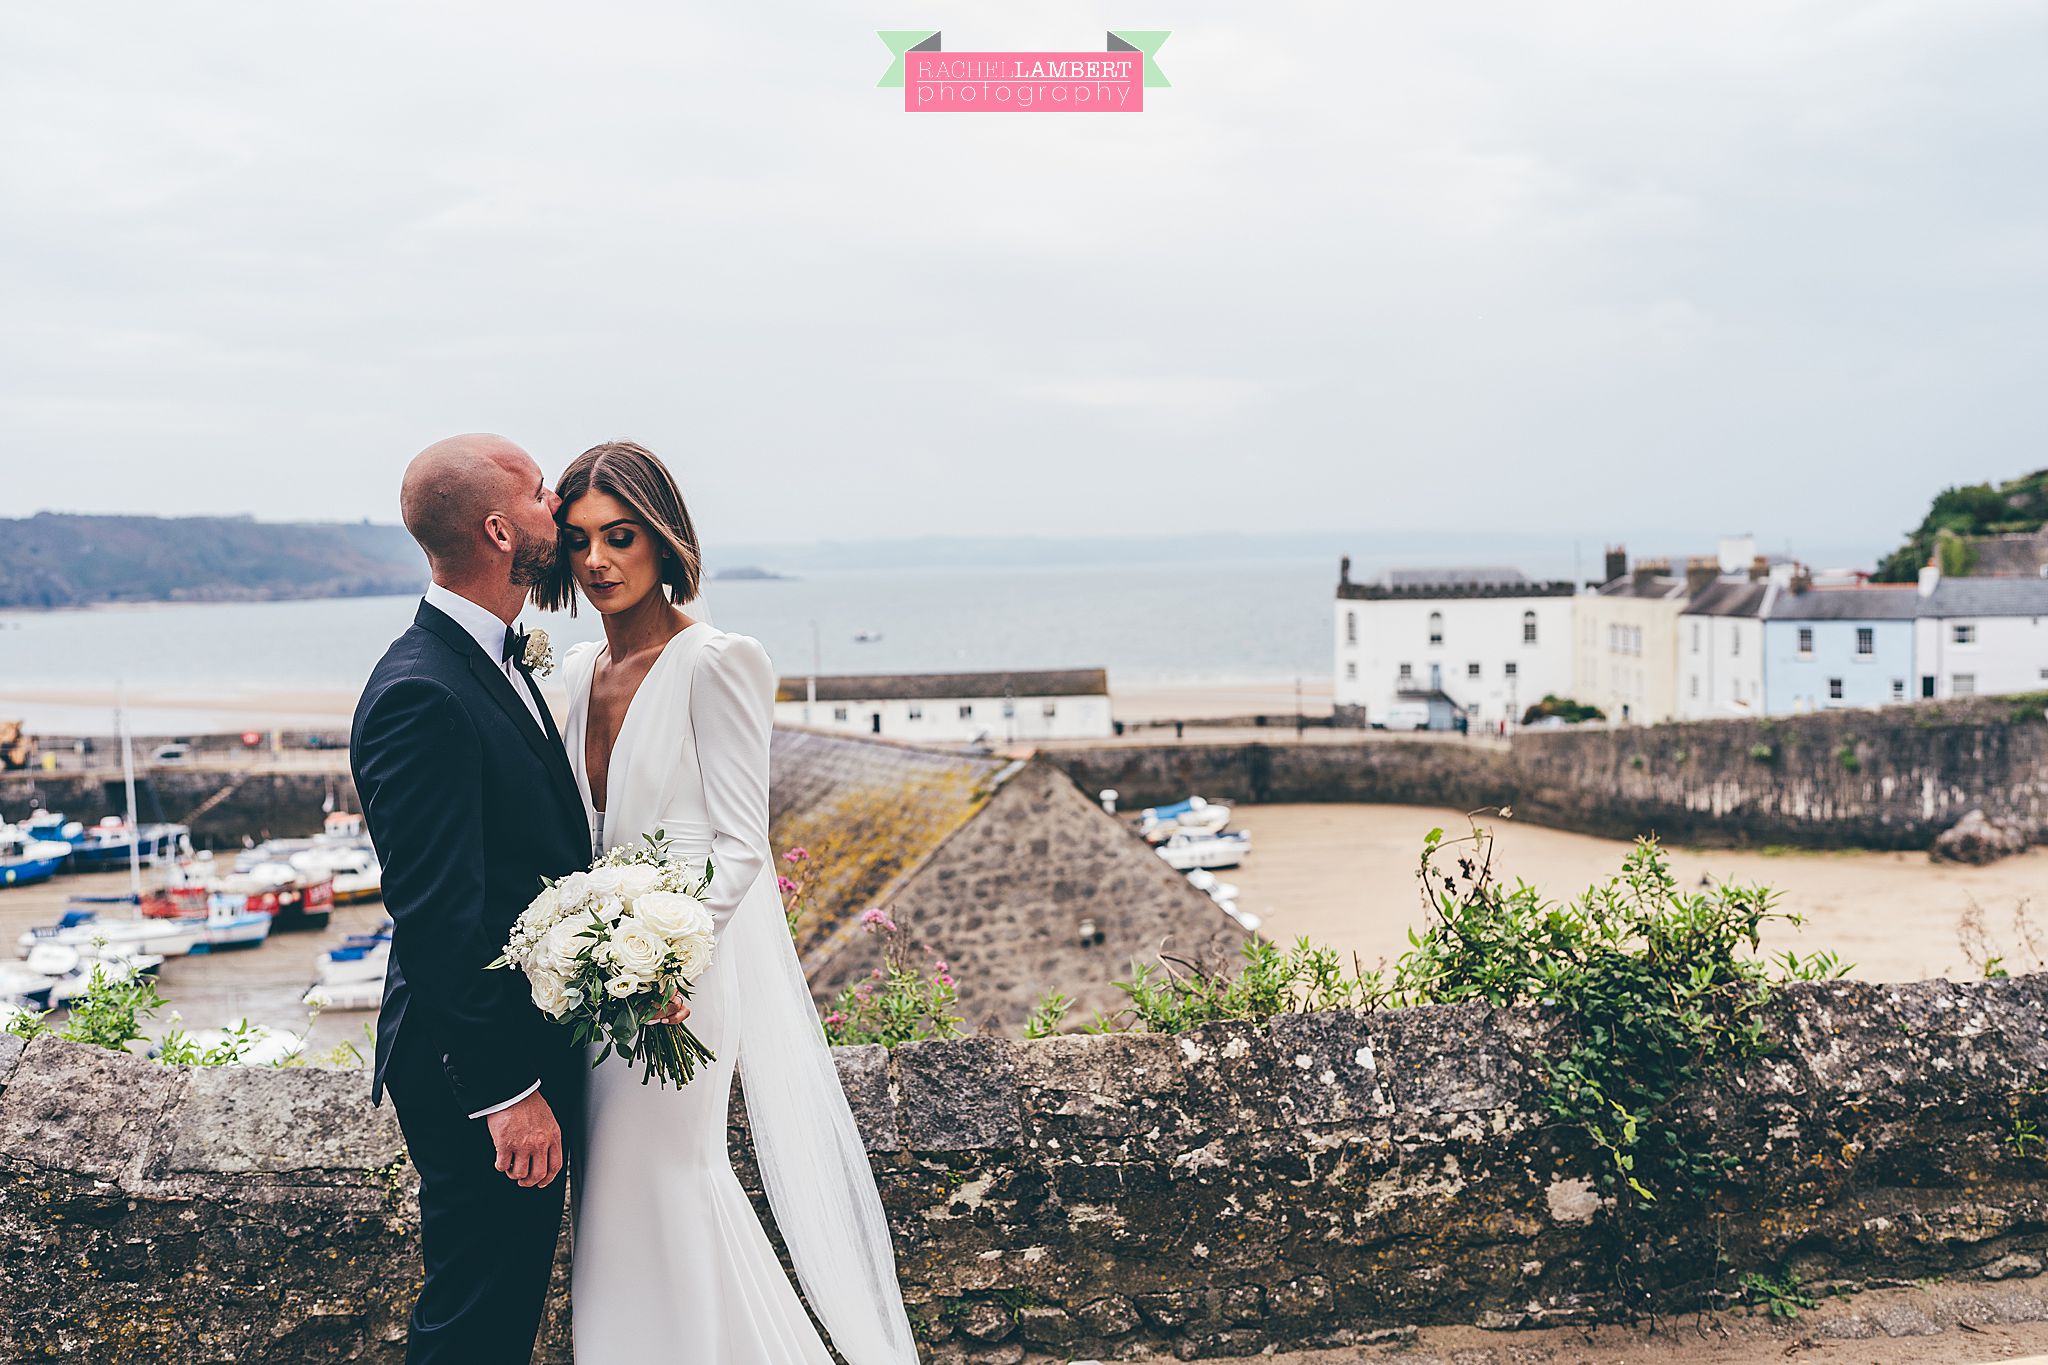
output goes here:
[{"label": "bouquet of white roses with green leaves held by the bride", "polygon": [[[532,1003],[571,1027],[578,1044],[602,1040],[598,1062],[616,1052],[645,1062],[641,1085],[686,1085],[711,1050],[686,1025],[649,1023],[711,968],[711,911],[702,874],[668,849],[662,831],[604,853],[590,872],[541,884],[485,970],[526,974]],[[596,1062],[592,1062],[596,1064]]]}]

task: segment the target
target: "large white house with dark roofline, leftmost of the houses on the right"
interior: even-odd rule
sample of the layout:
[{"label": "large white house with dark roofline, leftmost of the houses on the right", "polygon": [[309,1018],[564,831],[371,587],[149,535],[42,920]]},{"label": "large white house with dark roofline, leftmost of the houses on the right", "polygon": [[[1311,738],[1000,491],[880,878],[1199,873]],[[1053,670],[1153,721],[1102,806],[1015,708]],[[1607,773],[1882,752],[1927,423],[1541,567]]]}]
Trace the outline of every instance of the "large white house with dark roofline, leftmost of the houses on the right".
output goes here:
[{"label": "large white house with dark roofline, leftmost of the houses on the right", "polygon": [[1333,700],[1339,722],[1509,729],[1571,692],[1573,583],[1520,569],[1337,571]]}]

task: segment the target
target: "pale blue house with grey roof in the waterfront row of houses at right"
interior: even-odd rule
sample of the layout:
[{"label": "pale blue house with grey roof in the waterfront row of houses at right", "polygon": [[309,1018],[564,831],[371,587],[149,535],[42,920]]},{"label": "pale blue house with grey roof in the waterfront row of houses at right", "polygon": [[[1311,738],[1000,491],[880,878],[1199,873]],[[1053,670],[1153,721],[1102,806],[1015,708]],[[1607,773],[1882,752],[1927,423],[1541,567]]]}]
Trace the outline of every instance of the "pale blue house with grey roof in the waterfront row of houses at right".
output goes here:
[{"label": "pale blue house with grey roof in the waterfront row of houses at right", "polygon": [[1915,700],[1919,606],[1911,583],[1780,589],[1763,618],[1763,712]]}]

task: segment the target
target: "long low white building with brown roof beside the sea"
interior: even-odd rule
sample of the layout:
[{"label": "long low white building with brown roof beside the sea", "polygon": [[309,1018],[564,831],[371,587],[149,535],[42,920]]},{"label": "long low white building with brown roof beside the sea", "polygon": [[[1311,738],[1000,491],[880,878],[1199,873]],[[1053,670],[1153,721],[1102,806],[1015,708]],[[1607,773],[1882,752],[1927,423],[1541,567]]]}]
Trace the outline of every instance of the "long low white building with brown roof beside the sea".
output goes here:
[{"label": "long low white building with brown roof beside the sea", "polygon": [[1112,733],[1110,675],[1104,669],[797,675],[776,686],[774,720],[952,745],[1102,739]]}]

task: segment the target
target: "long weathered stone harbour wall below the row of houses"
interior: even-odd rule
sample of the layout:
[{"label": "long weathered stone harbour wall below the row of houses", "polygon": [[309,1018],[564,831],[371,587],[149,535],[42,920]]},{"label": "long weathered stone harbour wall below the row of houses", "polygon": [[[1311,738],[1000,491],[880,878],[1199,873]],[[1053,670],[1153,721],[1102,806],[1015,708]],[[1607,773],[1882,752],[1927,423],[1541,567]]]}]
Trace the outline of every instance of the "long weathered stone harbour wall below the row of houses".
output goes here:
[{"label": "long weathered stone harbour wall below the row of houses", "polygon": [[1229,802],[1516,808],[1559,829],[1673,843],[1927,847],[1974,806],[2048,837],[2048,722],[2007,698],[1778,720],[1524,731],[1456,739],[1049,749],[1122,810]]}]

